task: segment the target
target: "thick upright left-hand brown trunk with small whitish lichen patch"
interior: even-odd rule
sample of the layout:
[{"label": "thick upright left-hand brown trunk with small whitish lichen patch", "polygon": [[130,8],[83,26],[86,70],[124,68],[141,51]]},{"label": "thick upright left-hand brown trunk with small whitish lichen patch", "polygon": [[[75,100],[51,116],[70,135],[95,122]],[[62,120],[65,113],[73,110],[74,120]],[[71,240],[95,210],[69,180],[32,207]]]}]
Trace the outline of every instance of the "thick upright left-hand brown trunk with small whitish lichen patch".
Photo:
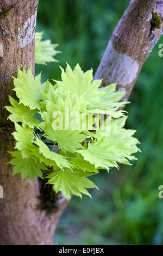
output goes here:
[{"label": "thick upright left-hand brown trunk with small whitish lichen patch", "polygon": [[33,66],[34,35],[38,0],[0,0],[0,245],[51,245],[55,227],[67,200],[58,200],[58,211],[48,215],[36,210],[40,195],[39,181],[21,181],[12,176],[7,151],[14,150],[10,136],[12,124],[7,121],[8,95],[15,97],[12,76],[17,68]]}]

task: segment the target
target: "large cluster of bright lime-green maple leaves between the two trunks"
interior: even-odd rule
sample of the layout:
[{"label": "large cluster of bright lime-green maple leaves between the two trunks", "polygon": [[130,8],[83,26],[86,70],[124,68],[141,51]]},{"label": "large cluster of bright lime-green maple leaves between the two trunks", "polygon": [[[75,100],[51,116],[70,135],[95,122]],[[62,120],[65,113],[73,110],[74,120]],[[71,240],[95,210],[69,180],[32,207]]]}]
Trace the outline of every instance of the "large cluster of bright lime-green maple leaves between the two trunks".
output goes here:
[{"label": "large cluster of bright lime-green maple leaves between the two trunks", "polygon": [[[67,64],[66,70],[61,68],[61,81],[54,80],[53,86],[48,80],[41,83],[41,74],[34,78],[31,66],[27,71],[18,68],[17,100],[9,96],[11,106],[6,106],[11,113],[8,119],[15,123],[16,151],[10,152],[14,158],[9,162],[14,165],[13,175],[21,173],[22,180],[28,176],[32,181],[35,176],[46,178],[68,200],[72,194],[91,197],[86,188],[98,187],[89,176],[99,169],[118,168],[118,163],[130,164],[140,151],[135,130],[124,129],[127,117],[118,110],[128,103],[120,102],[124,92],[116,92],[115,83],[99,88],[102,81],[93,81],[92,73],[92,69],[83,72],[79,64],[74,70]],[[55,129],[56,113],[62,114],[61,123],[68,123],[68,129]],[[78,113],[76,119],[73,113]],[[109,117],[98,125],[96,113],[109,113],[110,132],[103,132]],[[74,119],[76,129],[70,129]]]}]

